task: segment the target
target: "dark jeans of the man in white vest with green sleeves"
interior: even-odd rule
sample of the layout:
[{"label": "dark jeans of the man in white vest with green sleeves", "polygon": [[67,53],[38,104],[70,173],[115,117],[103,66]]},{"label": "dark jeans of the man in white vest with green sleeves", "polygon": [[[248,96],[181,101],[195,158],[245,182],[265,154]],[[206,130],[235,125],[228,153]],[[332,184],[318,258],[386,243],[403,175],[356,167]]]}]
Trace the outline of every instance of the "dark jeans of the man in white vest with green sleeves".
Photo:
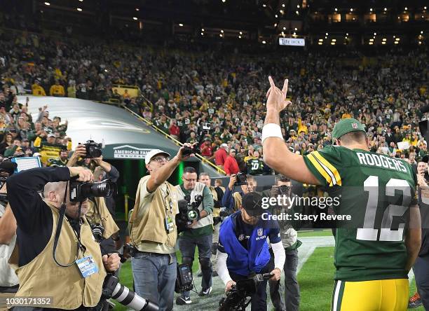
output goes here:
[{"label": "dark jeans of the man in white vest with green sleeves", "polygon": [[[212,286],[212,235],[204,235],[203,237],[180,237],[179,249],[182,253],[182,263],[187,263],[192,267],[195,248],[198,247],[198,260],[201,265],[203,278],[201,279],[201,287],[208,289]],[[189,297],[189,291],[185,291],[182,296]]]}]

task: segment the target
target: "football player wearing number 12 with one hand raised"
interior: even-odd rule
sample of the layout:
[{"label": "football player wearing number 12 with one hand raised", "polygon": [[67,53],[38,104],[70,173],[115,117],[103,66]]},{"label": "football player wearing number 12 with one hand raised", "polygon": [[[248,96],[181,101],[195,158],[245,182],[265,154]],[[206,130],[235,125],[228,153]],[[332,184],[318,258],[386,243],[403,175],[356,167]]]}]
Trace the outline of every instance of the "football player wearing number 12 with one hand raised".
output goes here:
[{"label": "football player wearing number 12 with one hand raised", "polygon": [[[407,274],[421,244],[416,175],[404,160],[369,152],[363,125],[353,118],[334,126],[332,141],[308,155],[292,153],[282,137],[279,113],[291,102],[268,77],[262,132],[264,161],[306,184],[326,186],[341,202],[336,215],[352,221],[337,228],[332,310],[407,310]],[[346,226],[348,226],[346,228]]]}]

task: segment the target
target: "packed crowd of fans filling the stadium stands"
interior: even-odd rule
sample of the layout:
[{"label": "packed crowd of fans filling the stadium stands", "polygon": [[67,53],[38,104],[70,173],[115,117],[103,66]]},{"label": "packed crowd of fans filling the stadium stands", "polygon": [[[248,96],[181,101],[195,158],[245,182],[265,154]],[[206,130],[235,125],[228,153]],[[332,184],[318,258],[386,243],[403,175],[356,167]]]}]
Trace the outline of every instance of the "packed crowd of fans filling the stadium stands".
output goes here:
[{"label": "packed crowd of fans filling the stadium stands", "polygon": [[[4,85],[34,95],[120,99],[182,142],[195,142],[201,123],[209,122],[212,130],[202,155],[229,174],[237,167],[245,170],[247,160],[262,157],[268,74],[279,84],[289,78],[292,105],[281,121],[285,140],[296,153],[330,144],[336,121],[350,117],[365,124],[372,151],[411,163],[427,153],[417,126],[422,117],[419,108],[429,104],[425,48],[398,48],[368,60],[357,51],[252,57],[107,46],[36,34],[14,38],[0,34]],[[111,92],[115,83],[137,85],[143,97]],[[29,125],[25,125],[28,131],[32,130]],[[226,167],[225,153],[236,163]]]}]

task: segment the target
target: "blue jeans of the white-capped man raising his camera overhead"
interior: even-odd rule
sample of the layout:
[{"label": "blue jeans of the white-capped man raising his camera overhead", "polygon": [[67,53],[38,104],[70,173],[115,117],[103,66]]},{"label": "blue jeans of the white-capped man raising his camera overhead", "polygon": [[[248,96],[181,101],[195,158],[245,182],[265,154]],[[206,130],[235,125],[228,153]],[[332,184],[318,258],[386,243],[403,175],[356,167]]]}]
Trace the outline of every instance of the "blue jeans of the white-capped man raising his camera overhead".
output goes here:
[{"label": "blue jeans of the white-capped man raising his camera overhead", "polygon": [[157,303],[159,311],[173,308],[177,274],[176,254],[137,253],[131,258],[135,292]]}]

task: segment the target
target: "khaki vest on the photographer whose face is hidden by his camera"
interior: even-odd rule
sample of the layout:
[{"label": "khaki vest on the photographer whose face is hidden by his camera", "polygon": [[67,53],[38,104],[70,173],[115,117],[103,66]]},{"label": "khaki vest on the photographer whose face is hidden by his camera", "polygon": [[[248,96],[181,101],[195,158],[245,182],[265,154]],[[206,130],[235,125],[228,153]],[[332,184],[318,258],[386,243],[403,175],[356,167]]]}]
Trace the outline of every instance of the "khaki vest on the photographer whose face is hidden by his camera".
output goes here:
[{"label": "khaki vest on the photographer whose face is hidden by his camera", "polygon": [[119,231],[119,227],[116,225],[113,217],[111,216],[109,209],[107,209],[106,201],[104,198],[94,198],[95,203],[97,203],[97,209],[93,200],[88,200],[88,212],[86,213],[86,220],[88,223],[93,225],[94,223],[101,223],[104,228],[103,238],[108,239],[114,233]]}]

